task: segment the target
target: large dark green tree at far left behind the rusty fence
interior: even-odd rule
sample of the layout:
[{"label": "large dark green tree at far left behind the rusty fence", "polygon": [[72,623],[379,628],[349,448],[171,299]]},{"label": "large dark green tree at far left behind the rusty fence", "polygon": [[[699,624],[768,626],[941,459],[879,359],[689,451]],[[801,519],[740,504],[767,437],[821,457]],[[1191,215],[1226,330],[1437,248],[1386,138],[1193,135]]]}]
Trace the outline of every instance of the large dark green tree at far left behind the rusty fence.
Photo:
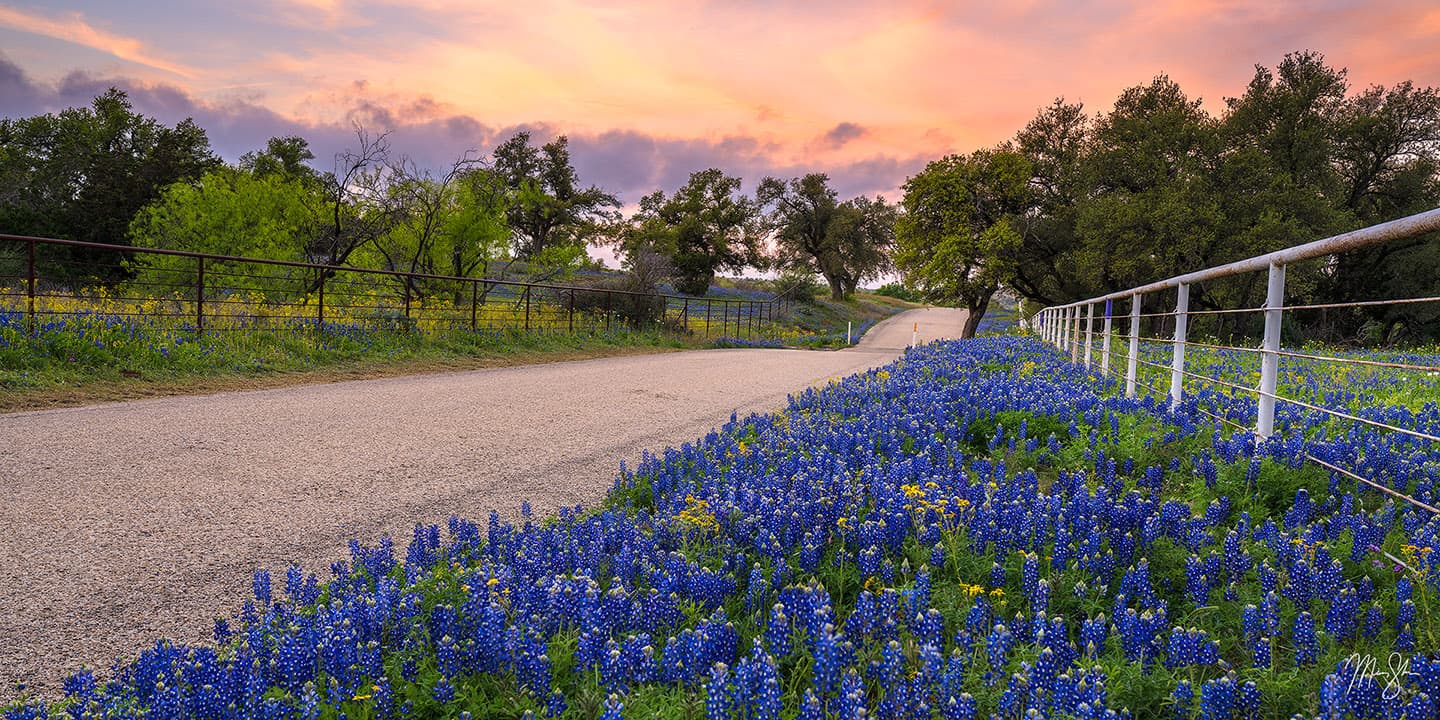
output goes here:
[{"label": "large dark green tree at far left behind the rusty fence", "polygon": [[[131,219],[164,187],[217,166],[204,130],[140,115],[114,88],[88,108],[0,118],[0,229],[124,245]],[[124,274],[117,255],[88,248],[48,248],[43,262],[73,281]]]}]

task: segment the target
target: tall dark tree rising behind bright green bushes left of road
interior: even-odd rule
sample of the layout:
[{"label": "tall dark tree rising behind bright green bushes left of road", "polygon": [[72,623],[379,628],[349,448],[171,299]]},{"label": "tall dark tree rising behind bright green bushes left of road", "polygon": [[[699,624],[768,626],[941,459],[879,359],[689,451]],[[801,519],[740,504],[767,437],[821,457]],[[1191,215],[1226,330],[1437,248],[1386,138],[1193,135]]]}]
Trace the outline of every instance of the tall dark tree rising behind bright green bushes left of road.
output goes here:
[{"label": "tall dark tree rising behind bright green bushes left of road", "polygon": [[517,132],[495,148],[494,168],[510,194],[505,219],[517,259],[540,265],[579,259],[621,204],[599,187],[580,186],[564,135],[537,148],[530,132]]}]

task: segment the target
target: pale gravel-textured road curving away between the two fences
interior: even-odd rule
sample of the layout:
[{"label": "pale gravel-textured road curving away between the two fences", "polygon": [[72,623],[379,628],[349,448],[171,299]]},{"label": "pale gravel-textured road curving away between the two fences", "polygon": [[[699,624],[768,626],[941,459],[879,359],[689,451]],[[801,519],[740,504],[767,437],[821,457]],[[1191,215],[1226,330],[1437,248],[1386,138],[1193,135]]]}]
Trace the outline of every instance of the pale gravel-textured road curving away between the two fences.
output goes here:
[{"label": "pale gravel-textured road curving away between the two fences", "polygon": [[[259,567],[350,539],[599,500],[621,461],[956,337],[914,310],[844,351],[700,350],[0,415],[0,706],[160,638],[204,641]],[[282,575],[276,577],[281,582]],[[107,672],[108,674],[108,672]]]}]

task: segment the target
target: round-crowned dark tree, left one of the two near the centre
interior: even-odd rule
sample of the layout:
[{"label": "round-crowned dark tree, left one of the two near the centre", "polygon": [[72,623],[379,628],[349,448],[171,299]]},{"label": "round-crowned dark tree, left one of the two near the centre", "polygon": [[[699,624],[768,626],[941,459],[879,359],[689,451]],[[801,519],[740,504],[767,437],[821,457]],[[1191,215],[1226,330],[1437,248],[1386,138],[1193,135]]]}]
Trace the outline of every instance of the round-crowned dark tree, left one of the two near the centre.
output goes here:
[{"label": "round-crowned dark tree, left one of the two near the centre", "polygon": [[626,256],[645,251],[665,256],[675,288],[704,295],[716,272],[763,265],[757,217],[759,207],[740,193],[739,177],[701,170],[670,197],[657,190],[641,199],[619,243]]}]

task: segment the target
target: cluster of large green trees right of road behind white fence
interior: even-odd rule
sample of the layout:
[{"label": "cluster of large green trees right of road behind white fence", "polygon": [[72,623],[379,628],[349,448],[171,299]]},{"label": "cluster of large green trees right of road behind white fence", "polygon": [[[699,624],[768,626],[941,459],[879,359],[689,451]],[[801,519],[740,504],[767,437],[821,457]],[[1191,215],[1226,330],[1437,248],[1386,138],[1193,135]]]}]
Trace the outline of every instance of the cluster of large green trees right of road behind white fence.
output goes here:
[{"label": "cluster of large green trees right of road behind white fence", "polygon": [[[1103,114],[1057,99],[1012,141],[912,177],[897,264],[932,300],[984,310],[1009,287],[1037,305],[1068,302],[1433,209],[1437,168],[1434,88],[1352,92],[1344,69],[1300,52],[1257,66],[1215,117],[1161,75]],[[1191,292],[1197,310],[1256,307],[1264,274]],[[1437,297],[1440,240],[1292,266],[1287,295],[1287,304]],[[1174,294],[1148,302],[1161,312]],[[1202,331],[1251,334],[1257,323],[1220,315]],[[1302,327],[1331,341],[1431,340],[1440,304],[1310,312],[1292,330]]]}]

